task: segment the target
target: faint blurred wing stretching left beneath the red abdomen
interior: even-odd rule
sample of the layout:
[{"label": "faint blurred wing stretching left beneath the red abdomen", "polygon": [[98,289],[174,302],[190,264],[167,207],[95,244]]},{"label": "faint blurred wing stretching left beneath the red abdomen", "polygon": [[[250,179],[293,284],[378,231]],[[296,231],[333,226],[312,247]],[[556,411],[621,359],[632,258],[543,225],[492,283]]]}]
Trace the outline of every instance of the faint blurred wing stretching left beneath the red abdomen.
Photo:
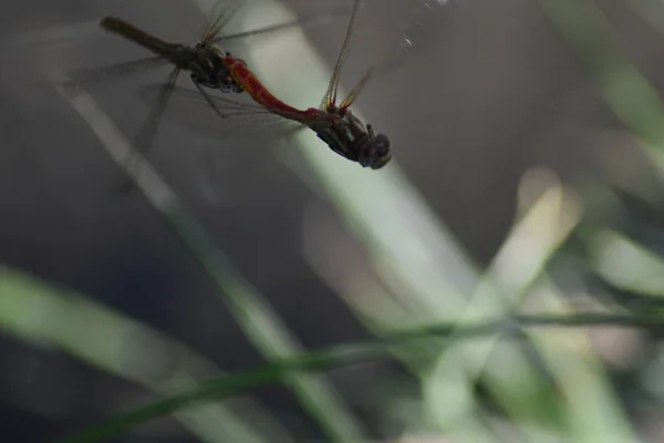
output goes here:
[{"label": "faint blurred wing stretching left beneath the red abdomen", "polygon": [[[138,89],[138,100],[147,105],[159,93],[159,85]],[[305,128],[303,124],[271,113],[266,107],[250,101],[248,96],[226,99],[219,94],[206,93],[215,109],[196,90],[174,86],[169,109],[164,119],[188,132],[210,138],[256,136],[288,136]],[[245,100],[242,100],[245,99]]]}]

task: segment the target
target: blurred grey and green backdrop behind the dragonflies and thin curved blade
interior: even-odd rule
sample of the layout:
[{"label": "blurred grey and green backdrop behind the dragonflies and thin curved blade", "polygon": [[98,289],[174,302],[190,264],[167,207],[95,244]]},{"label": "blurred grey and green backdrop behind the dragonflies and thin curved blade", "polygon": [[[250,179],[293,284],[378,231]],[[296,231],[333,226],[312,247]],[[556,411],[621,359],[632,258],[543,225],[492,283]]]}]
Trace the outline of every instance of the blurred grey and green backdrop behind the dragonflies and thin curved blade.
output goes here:
[{"label": "blurred grey and green backdrop behind the dragonflies and thin curved blade", "polygon": [[[221,131],[174,101],[139,189],[118,195],[142,87],[168,69],[74,99],[51,79],[148,55],[103,16],[193,44],[214,3],[1,7],[4,441],[432,324],[458,329],[98,441],[664,441],[661,1],[366,0],[341,85],[397,53],[354,107],[390,136],[387,167],[309,132]],[[351,8],[249,1],[224,33],[309,23],[228,49],[318,106]],[[551,324],[459,340],[515,315]]]}]

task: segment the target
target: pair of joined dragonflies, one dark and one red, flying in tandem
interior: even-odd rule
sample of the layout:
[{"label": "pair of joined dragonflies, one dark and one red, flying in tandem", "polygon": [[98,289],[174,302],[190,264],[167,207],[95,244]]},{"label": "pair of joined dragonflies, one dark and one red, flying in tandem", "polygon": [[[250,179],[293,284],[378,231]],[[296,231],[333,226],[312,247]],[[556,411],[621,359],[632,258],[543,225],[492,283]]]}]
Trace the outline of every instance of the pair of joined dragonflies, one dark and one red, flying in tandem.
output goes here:
[{"label": "pair of joined dragonflies, one dark and one red, flying in tandem", "polygon": [[[432,12],[436,12],[436,9],[447,4],[449,0],[417,1],[419,3],[418,8],[424,8],[424,12],[430,14]],[[355,22],[364,0],[354,0],[345,39],[322,103],[319,107],[310,107],[308,110],[295,109],[277,99],[261,84],[245,61],[232,56],[229,52],[219,48],[218,44],[224,43],[225,40],[238,37],[225,37],[221,35],[221,31],[232,19],[236,11],[246,2],[247,0],[219,0],[210,14],[210,19],[199,41],[193,47],[166,42],[123,19],[105,17],[100,22],[104,30],[118,34],[149,50],[156,54],[156,58],[144,58],[92,70],[82,70],[72,75],[72,83],[75,85],[86,80],[98,80],[100,76],[106,76],[110,73],[123,74],[135,72],[148,65],[172,64],[174,66],[167,82],[159,87],[149,115],[138,132],[134,143],[134,154],[146,155],[152,147],[153,138],[173,92],[177,91],[180,94],[195,92],[181,90],[175,85],[180,72],[188,71],[191,82],[198,90],[199,97],[203,97],[220,119],[234,117],[232,112],[228,111],[229,107],[234,106],[229,105],[235,105],[236,109],[242,107],[243,110],[247,110],[247,105],[240,105],[229,99],[212,96],[206,90],[215,90],[226,94],[248,94],[258,103],[255,113],[270,113],[281,119],[294,121],[302,127],[309,127],[333,152],[352,162],[359,163],[363,167],[378,169],[385,166],[392,158],[390,140],[384,134],[376,134],[370,124],[363,124],[350,110],[350,106],[354,103],[375,71],[375,65],[366,71],[357,85],[351,90],[340,104],[336,102],[341,69],[349,53]],[[415,24],[418,27],[422,25],[418,22]],[[260,34],[292,25],[292,23],[272,25],[243,33],[243,35]],[[412,44],[408,31],[404,32],[401,39],[402,45]],[[128,159],[127,168],[135,167],[137,155],[132,155]]]}]

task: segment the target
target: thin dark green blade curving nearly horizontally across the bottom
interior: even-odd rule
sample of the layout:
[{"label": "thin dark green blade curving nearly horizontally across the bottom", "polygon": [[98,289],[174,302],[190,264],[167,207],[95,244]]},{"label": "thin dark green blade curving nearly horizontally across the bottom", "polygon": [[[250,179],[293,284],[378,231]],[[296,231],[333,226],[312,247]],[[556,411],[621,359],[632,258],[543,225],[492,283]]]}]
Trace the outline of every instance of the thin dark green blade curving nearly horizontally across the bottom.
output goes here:
[{"label": "thin dark green blade curving nearly horizontally across the bottom", "polygon": [[450,342],[473,340],[492,334],[519,336],[521,328],[568,328],[606,324],[633,327],[661,326],[664,324],[664,312],[649,312],[643,316],[603,313],[579,313],[575,316],[522,315],[515,316],[509,321],[496,319],[464,327],[458,327],[455,323],[443,323],[401,331],[386,336],[383,339],[335,346],[320,351],[312,351],[298,358],[273,362],[263,368],[205,381],[180,394],[175,394],[146,406],[115,415],[97,426],[92,426],[79,434],[62,440],[60,443],[93,442],[102,437],[108,437],[133,425],[174,413],[197,403],[217,402],[246,393],[257,387],[283,382],[295,372],[322,372],[352,364],[384,360],[391,358],[395,349],[404,353],[407,352],[411,357],[416,358],[424,349],[422,344],[430,341]]}]

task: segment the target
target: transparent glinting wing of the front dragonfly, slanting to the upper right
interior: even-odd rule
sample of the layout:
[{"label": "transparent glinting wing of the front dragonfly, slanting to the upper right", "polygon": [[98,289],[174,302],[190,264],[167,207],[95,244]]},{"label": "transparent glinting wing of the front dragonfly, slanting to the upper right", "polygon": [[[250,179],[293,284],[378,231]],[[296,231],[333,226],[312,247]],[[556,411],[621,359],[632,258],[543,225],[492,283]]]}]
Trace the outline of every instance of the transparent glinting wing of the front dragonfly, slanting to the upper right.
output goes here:
[{"label": "transparent glinting wing of the front dragonfly, slanting to the upper right", "polygon": [[393,50],[380,61],[372,64],[342,101],[340,109],[343,111],[351,106],[357,99],[369,80],[376,73],[387,72],[396,65],[403,65],[405,55],[413,52],[415,47],[426,47],[428,34],[437,27],[446,24],[452,19],[458,0],[417,0],[411,19],[402,25],[398,40],[391,45]]}]

